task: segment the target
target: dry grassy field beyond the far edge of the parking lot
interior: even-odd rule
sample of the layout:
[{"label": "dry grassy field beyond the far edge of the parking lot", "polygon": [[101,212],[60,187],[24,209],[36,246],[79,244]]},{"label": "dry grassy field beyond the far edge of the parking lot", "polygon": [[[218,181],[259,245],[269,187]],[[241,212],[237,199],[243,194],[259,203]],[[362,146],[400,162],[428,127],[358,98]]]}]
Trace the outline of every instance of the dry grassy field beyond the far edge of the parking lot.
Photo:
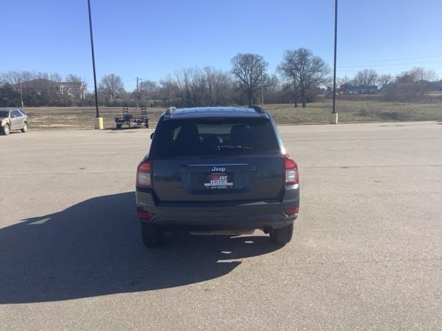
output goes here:
[{"label": "dry grassy field beyond the far edge of the parking lot", "polygon": [[[292,104],[266,105],[278,124],[328,123],[332,101],[309,103],[307,108]],[[340,123],[369,123],[384,121],[442,121],[442,103],[395,103],[370,100],[337,100]],[[26,108],[32,129],[93,128],[95,108]],[[135,109],[129,110],[136,114]],[[163,108],[148,108],[151,126],[155,126]],[[105,128],[114,128],[113,119],[122,115],[122,108],[100,108]]]}]

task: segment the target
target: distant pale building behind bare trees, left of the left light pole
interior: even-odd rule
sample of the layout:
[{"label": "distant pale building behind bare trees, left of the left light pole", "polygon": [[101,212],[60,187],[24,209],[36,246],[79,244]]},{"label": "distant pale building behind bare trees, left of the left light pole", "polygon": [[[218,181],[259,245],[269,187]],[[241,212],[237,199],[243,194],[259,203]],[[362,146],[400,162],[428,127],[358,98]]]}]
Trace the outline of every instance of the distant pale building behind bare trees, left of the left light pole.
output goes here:
[{"label": "distant pale building behind bare trees, left of the left light pole", "polygon": [[[13,86],[20,89],[19,84]],[[49,79],[32,79],[21,83],[23,90],[34,90],[37,93],[56,91],[77,100],[86,99],[86,86],[82,81],[50,81]]]}]

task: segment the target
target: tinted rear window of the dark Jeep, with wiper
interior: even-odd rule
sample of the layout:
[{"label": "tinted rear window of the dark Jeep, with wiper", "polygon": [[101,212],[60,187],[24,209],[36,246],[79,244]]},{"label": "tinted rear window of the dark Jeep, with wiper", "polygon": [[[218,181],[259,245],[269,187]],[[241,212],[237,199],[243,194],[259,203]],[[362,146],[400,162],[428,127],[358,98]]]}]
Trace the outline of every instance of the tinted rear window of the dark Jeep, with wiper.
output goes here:
[{"label": "tinted rear window of the dark Jeep, with wiper", "polygon": [[155,134],[155,157],[209,157],[280,153],[269,119],[206,118],[163,121]]}]

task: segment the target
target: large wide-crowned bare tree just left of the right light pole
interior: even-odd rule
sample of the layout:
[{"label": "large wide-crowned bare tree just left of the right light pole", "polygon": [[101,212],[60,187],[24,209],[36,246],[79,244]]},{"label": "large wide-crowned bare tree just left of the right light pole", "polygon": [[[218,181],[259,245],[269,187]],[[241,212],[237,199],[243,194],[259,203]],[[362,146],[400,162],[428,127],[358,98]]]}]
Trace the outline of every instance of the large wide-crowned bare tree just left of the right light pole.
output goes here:
[{"label": "large wide-crowned bare tree just left of the right light pole", "polygon": [[307,105],[307,94],[329,82],[330,70],[323,59],[305,48],[287,50],[278,66],[287,83],[294,88],[295,103],[298,94],[302,98],[302,107]]}]

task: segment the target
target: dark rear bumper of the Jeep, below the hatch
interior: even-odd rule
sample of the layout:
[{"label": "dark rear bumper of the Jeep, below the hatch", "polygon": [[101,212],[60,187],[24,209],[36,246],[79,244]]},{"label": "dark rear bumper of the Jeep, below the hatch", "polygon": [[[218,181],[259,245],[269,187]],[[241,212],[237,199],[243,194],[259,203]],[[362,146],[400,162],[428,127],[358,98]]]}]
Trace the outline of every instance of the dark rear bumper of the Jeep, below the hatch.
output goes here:
[{"label": "dark rear bumper of the Jeep, below the hatch", "polygon": [[299,208],[299,187],[285,188],[285,199],[235,202],[155,203],[153,192],[136,190],[137,211],[151,212],[151,219],[142,222],[185,230],[254,230],[282,228],[298,215],[288,216],[285,210]]}]

